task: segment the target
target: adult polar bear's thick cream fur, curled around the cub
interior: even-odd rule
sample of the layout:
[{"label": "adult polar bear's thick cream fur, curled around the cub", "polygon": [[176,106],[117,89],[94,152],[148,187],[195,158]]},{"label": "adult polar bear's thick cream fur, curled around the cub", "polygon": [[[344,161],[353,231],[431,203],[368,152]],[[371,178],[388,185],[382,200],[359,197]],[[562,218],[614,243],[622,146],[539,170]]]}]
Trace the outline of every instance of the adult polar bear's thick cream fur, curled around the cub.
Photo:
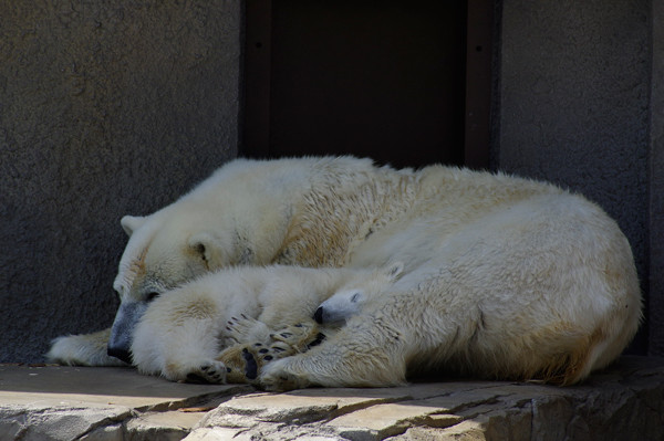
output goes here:
[{"label": "adult polar bear's thick cream fur, curled around the cub", "polygon": [[[614,359],[641,317],[615,222],[580,196],[500,174],[393,170],[349,157],[237,160],[123,227],[118,346],[131,344],[144,309],[135,304],[228,265],[404,262],[403,277],[335,337],[269,364],[268,388],[394,385],[440,366],[570,384]],[[59,340],[70,351],[56,345],[52,359],[73,359],[68,338],[79,337]]]}]

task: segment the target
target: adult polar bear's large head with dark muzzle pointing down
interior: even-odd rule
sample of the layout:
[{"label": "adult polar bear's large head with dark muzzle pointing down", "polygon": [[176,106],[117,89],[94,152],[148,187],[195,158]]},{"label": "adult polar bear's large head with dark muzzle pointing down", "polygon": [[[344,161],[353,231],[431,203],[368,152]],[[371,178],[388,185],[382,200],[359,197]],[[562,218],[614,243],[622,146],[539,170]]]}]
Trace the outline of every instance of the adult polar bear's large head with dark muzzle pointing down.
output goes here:
[{"label": "adult polar bear's large head with dark muzzle pointing down", "polygon": [[210,231],[200,210],[173,214],[163,210],[143,218],[127,216],[121,222],[129,241],[113,284],[121,304],[107,351],[126,363],[131,363],[134,326],[151,301],[201,274],[235,263],[232,234],[219,229]]}]

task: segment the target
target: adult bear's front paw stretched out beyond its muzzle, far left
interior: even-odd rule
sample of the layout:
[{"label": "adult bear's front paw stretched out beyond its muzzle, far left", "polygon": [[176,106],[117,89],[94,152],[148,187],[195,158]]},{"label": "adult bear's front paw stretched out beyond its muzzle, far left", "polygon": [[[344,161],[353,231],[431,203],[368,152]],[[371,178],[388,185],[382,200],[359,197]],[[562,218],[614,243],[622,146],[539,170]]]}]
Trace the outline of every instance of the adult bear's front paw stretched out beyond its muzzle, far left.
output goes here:
[{"label": "adult bear's front paw stretched out beyond its muzzle, far left", "polygon": [[126,366],[106,353],[110,336],[111,328],[93,334],[58,337],[45,355],[46,359],[70,366]]}]

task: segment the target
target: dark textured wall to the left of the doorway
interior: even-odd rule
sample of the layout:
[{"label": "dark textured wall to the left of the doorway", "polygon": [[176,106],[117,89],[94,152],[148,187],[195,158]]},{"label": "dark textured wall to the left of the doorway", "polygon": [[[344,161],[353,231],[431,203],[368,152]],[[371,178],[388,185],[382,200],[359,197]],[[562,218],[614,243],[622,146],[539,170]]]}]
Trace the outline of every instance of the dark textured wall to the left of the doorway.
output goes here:
[{"label": "dark textured wall to the left of the doorway", "polygon": [[0,0],[0,361],[111,324],[120,218],[237,154],[240,0]]}]

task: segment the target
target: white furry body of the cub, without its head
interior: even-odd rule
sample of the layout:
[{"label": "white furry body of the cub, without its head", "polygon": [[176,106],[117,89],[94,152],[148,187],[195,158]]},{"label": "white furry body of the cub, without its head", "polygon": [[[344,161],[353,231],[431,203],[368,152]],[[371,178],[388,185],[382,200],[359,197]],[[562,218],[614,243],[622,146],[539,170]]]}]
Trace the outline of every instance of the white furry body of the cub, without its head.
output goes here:
[{"label": "white furry body of the cub, without its head", "polygon": [[376,277],[370,270],[240,266],[189,282],[153,302],[134,334],[132,353],[139,371],[183,380],[211,365],[229,345],[232,317],[261,325],[251,340],[264,342],[280,324],[309,321],[317,306],[343,283]]}]

